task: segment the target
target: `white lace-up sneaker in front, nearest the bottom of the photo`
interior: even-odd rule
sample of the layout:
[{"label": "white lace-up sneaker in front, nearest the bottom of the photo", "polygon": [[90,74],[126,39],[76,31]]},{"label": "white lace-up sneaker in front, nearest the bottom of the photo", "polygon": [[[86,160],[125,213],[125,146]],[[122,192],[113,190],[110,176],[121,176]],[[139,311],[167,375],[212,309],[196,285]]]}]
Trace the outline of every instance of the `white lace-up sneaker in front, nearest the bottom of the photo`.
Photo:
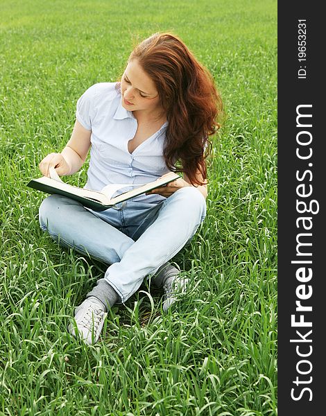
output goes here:
[{"label": "white lace-up sneaker in front, nearest the bottom of the photo", "polygon": [[[92,345],[100,337],[107,315],[108,313],[105,312],[105,306],[101,301],[94,296],[87,297],[82,304],[76,307],[76,324],[70,324],[68,331],[75,337],[79,333],[86,344]],[[78,333],[76,333],[76,325]]]}]

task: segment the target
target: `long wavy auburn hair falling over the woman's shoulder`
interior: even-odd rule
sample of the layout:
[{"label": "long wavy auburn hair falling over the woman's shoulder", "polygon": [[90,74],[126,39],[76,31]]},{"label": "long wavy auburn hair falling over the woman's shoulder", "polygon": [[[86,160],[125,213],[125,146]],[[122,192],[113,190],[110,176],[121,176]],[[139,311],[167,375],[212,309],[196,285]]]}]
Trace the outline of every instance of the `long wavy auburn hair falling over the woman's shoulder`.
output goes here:
[{"label": "long wavy auburn hair falling over the woman's shoulder", "polygon": [[[212,75],[171,33],[155,33],[143,40],[130,53],[131,60],[137,60],[153,80],[166,112],[166,166],[184,172],[193,185],[207,183],[205,159],[212,150],[208,137],[218,130],[222,111]],[[175,166],[178,160],[181,167]]]}]

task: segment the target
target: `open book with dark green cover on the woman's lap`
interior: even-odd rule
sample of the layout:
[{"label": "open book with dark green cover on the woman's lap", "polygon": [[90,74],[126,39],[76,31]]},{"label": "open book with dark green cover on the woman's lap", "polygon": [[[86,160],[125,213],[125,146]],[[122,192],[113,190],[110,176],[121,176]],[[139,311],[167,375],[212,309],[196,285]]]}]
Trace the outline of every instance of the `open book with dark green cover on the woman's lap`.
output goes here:
[{"label": "open book with dark green cover on the woman's lap", "polygon": [[[50,168],[50,176],[51,177],[42,176],[37,179],[33,179],[28,182],[27,186],[37,189],[38,191],[58,193],[59,195],[67,196],[67,198],[74,199],[83,204],[85,207],[94,209],[94,211],[104,211],[105,209],[114,207],[114,205],[119,204],[119,202],[135,198],[135,196],[139,196],[142,193],[151,191],[152,189],[163,187],[169,182],[181,177],[178,173],[169,172],[166,173],[166,175],[159,177],[157,180],[148,182],[148,184],[144,185],[109,184],[101,191],[92,191],[91,189],[78,188],[73,185],[66,184],[60,179],[54,168]],[[112,198],[114,193],[117,193],[120,189],[123,190],[123,188],[126,189],[130,186],[137,186],[137,188],[132,189],[131,191],[122,191],[119,195]]]}]

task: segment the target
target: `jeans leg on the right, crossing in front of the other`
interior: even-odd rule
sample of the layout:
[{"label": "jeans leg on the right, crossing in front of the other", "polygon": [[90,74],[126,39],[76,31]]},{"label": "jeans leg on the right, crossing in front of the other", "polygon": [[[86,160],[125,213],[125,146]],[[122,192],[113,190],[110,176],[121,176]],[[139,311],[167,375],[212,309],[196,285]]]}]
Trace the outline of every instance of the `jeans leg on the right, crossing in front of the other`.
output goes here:
[{"label": "jeans leg on the right, crossing in front of the other", "polygon": [[179,189],[162,203],[157,218],[126,250],[104,279],[126,302],[144,277],[155,273],[194,236],[206,215],[204,196],[194,187]]}]

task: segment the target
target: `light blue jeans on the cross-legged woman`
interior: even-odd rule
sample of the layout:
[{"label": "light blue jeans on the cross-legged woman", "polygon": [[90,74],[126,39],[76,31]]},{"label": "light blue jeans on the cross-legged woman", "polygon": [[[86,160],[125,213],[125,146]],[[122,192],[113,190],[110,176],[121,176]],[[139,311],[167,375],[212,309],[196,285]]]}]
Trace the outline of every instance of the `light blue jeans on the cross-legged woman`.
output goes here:
[{"label": "light blue jeans on the cross-legged woman", "polygon": [[40,225],[65,247],[110,264],[104,279],[126,302],[194,236],[206,216],[195,187],[178,189],[158,204],[127,201],[96,212],[51,195],[40,205]]}]

